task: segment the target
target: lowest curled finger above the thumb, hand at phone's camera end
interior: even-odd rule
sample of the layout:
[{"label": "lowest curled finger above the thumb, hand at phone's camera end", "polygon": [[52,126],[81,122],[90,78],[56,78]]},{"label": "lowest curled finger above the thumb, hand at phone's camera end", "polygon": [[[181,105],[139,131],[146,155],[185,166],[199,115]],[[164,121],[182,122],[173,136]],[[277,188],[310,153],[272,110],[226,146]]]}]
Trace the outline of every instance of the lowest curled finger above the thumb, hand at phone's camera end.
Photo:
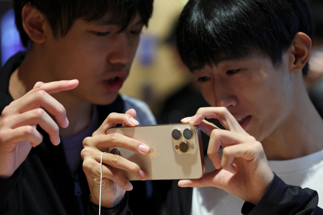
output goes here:
[{"label": "lowest curled finger above the thumb, hand at phone's camera end", "polygon": [[223,169],[235,174],[236,167],[232,164],[234,158],[243,158],[245,161],[259,161],[266,158],[260,142],[248,142],[225,147],[223,149],[221,166]]}]

